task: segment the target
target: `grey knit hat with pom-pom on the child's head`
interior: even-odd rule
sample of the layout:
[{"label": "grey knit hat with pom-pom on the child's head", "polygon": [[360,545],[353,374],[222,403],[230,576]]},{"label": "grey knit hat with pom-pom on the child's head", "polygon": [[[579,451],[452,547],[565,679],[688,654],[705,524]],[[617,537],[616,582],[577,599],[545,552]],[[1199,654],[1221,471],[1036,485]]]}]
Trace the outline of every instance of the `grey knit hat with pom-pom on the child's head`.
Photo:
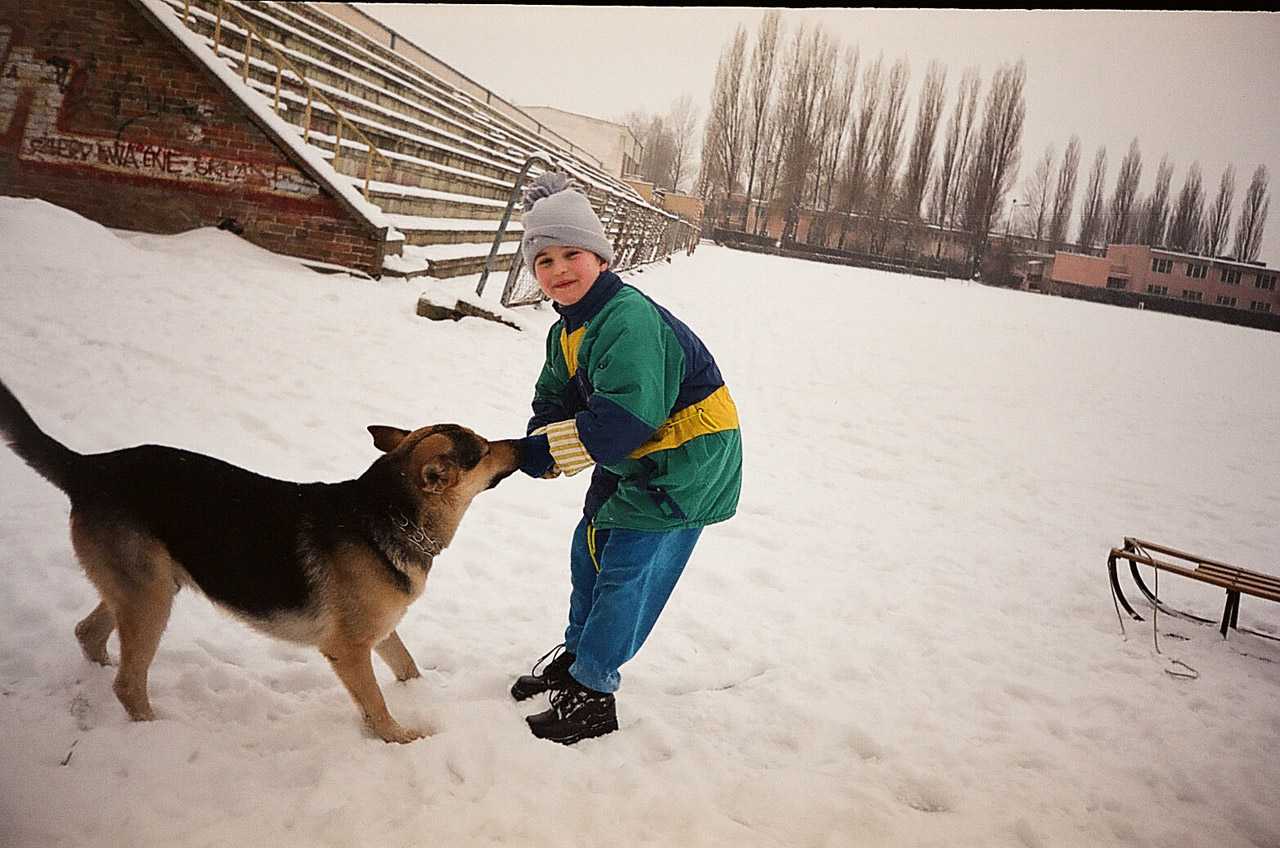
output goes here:
[{"label": "grey knit hat with pom-pom on the child's head", "polygon": [[549,170],[529,186],[520,220],[525,225],[520,251],[530,270],[538,254],[553,245],[581,247],[613,264],[613,245],[604,237],[591,201],[564,174]]}]

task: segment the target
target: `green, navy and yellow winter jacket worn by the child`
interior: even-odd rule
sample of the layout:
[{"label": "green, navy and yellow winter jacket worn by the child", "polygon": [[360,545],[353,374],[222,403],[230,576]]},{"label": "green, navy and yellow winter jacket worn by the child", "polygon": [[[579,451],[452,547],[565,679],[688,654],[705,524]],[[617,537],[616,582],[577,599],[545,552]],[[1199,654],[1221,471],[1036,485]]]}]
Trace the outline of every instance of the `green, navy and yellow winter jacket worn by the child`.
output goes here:
[{"label": "green, navy and yellow winter jacket worn by the child", "polygon": [[668,530],[732,516],[742,483],[737,409],[701,339],[608,270],[556,310],[522,470],[550,471],[552,447],[535,430],[572,420],[595,462],[584,512],[596,528]]}]

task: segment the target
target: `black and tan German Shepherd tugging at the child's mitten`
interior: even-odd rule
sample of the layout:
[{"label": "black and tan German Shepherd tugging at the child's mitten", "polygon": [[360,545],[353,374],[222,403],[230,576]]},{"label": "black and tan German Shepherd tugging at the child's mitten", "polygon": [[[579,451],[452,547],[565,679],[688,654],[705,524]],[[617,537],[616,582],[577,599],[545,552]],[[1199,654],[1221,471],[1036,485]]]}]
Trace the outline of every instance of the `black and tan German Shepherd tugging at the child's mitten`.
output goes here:
[{"label": "black and tan German Shepherd tugging at the child's mitten", "polygon": [[77,453],[0,383],[0,437],[70,498],[72,544],[101,597],[76,637],[108,665],[119,632],[114,689],[129,717],[155,717],[147,670],[189,585],[262,633],[316,646],[387,742],[421,738],[387,711],[371,652],[398,680],[421,676],[396,625],[471,500],[520,468],[520,442],[456,424],[369,432],[383,456],[358,479],[288,483],[156,444]]}]

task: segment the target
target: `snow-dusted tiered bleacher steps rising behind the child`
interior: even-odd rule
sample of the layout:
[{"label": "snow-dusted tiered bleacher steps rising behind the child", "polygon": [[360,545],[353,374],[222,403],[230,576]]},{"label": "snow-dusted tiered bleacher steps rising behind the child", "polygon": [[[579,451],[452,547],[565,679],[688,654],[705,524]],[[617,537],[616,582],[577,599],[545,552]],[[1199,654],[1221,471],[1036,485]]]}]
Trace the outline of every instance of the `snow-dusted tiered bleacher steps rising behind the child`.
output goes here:
[{"label": "snow-dusted tiered bleacher steps rising behind the child", "polygon": [[[204,36],[211,49],[214,29],[220,26],[218,53],[239,72],[244,29],[234,15],[219,14],[219,0],[164,1],[179,17],[186,15],[188,28]],[[582,182],[599,206],[646,206],[658,213],[596,163],[556,138],[535,135],[330,14],[337,10],[349,17],[351,9],[338,4],[238,0],[223,0],[223,5],[283,53],[390,160],[392,169],[374,164],[367,175],[369,201],[381,209],[396,231],[396,241],[388,241],[387,274],[479,274],[512,183],[525,160],[544,151]],[[271,100],[276,96],[278,65],[260,45],[251,50],[250,85]],[[289,70],[280,76],[279,114],[303,132],[307,97],[292,77]],[[338,120],[328,105],[314,101],[310,122],[308,141],[333,163]],[[347,131],[343,136],[335,170],[364,191],[366,147],[349,135]],[[495,270],[509,268],[518,237],[516,216],[508,224]]]}]

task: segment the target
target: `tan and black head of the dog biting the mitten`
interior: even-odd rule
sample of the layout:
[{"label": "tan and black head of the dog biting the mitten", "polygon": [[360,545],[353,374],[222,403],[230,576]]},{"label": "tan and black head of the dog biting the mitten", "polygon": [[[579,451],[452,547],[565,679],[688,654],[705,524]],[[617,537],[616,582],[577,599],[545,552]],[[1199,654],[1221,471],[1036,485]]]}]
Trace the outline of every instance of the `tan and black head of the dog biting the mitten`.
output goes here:
[{"label": "tan and black head of the dog biting the mitten", "polygon": [[435,424],[416,430],[372,424],[374,446],[399,469],[401,478],[424,496],[445,497],[465,505],[493,488],[520,468],[517,439],[490,442],[457,424]]}]

